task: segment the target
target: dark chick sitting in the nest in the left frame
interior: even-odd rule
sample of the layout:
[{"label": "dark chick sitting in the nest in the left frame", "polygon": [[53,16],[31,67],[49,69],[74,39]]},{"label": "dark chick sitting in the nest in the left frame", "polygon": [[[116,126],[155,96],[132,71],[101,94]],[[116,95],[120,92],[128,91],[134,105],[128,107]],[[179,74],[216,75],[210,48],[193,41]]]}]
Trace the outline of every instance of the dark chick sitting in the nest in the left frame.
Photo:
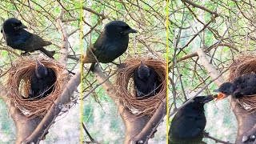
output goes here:
[{"label": "dark chick sitting in the nest in the left frame", "polygon": [[28,98],[45,98],[54,90],[56,74],[36,60],[36,67],[30,79],[30,94]]}]

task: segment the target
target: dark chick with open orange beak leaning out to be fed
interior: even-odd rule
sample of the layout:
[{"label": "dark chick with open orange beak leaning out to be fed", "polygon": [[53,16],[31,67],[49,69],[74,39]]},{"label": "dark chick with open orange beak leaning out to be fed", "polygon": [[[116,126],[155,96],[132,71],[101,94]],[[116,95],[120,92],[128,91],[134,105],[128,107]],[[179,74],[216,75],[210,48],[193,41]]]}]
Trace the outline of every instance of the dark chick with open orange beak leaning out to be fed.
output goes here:
[{"label": "dark chick with open orange beak leaning out to be fed", "polygon": [[234,82],[224,82],[219,86],[217,99],[226,98],[229,95],[234,95],[234,98],[242,98],[242,96],[256,94],[256,74],[246,74],[235,78]]}]

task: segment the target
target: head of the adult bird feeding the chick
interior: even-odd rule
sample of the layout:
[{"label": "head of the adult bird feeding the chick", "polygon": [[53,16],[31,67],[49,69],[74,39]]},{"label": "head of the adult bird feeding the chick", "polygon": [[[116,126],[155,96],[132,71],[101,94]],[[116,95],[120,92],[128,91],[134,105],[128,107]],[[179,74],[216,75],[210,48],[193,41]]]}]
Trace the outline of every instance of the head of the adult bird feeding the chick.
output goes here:
[{"label": "head of the adult bird feeding the chick", "polygon": [[195,97],[186,107],[193,108],[194,110],[204,110],[203,106],[212,100],[214,100],[212,95],[198,96]]}]

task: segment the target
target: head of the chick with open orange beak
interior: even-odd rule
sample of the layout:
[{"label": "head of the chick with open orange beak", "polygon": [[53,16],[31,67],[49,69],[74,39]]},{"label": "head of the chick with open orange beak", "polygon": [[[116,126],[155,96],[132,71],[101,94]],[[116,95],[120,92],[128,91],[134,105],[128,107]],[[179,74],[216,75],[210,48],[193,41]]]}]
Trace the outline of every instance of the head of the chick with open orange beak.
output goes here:
[{"label": "head of the chick with open orange beak", "polygon": [[222,99],[222,98],[226,98],[227,96],[234,94],[234,90],[235,90],[235,86],[233,83],[231,82],[225,82],[223,83],[221,86],[219,86],[219,88],[217,90],[214,90],[214,92],[218,92],[218,98]]}]

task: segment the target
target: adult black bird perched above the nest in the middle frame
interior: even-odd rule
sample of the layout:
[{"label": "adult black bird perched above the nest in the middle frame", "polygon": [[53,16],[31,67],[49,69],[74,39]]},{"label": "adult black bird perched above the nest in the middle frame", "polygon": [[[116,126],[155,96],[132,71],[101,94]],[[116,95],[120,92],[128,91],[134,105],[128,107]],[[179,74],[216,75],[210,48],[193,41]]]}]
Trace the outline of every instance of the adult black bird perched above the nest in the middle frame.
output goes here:
[{"label": "adult black bird perched above the nest in the middle frame", "polygon": [[126,22],[112,21],[107,23],[94,46],[90,46],[86,51],[83,62],[92,63],[92,67],[97,61],[102,63],[114,61],[127,50],[129,34],[136,32]]}]

